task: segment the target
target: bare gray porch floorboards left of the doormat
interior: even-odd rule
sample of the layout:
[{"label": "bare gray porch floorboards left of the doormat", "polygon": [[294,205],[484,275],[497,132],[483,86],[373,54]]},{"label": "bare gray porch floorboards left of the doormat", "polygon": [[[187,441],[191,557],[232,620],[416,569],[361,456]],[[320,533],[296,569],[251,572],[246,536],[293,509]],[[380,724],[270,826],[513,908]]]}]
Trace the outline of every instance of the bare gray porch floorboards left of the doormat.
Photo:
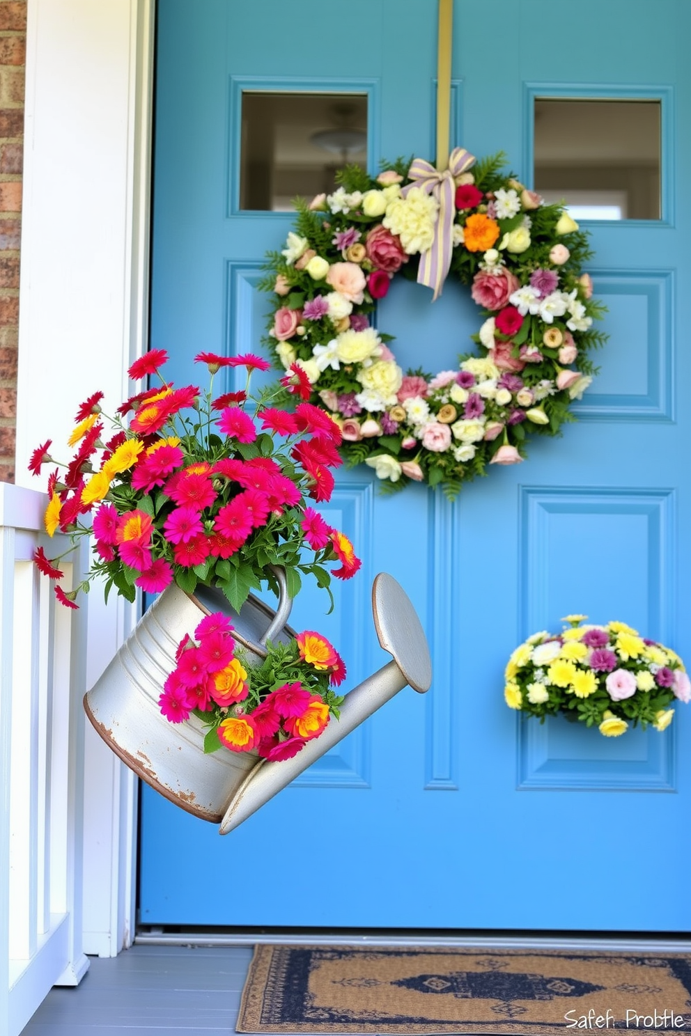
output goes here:
[{"label": "bare gray porch floorboards left of the doormat", "polygon": [[228,1036],[252,950],[133,946],[91,957],[76,989],[54,988],[22,1036]]}]

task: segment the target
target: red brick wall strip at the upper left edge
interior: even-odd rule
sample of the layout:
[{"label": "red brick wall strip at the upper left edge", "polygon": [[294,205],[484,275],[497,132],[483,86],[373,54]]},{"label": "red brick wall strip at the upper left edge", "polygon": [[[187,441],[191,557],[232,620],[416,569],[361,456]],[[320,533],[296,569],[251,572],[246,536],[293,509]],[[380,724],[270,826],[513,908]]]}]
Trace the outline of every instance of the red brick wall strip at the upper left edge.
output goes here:
[{"label": "red brick wall strip at the upper left edge", "polygon": [[15,481],[26,0],[0,0],[0,482]]}]

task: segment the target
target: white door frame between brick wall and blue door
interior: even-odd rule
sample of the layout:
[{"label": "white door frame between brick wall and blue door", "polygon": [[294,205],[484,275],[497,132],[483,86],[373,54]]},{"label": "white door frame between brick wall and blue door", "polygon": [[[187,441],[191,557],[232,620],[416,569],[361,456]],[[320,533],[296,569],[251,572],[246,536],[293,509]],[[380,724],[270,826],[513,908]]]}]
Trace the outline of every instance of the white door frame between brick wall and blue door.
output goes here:
[{"label": "white door frame between brick wall and blue door", "polygon": [[[100,388],[113,412],[147,348],[154,0],[28,0],[17,482]],[[109,409],[111,408],[111,409]],[[89,595],[87,685],[136,617]],[[137,780],[87,724],[84,951],[135,925]],[[79,851],[79,846],[76,846]]]}]

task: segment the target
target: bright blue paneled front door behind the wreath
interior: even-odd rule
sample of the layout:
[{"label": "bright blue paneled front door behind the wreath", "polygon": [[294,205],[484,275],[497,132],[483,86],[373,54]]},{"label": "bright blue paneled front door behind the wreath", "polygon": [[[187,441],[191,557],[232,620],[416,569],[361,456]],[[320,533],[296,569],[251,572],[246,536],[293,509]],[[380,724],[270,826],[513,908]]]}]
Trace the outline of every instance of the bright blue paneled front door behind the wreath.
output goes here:
[{"label": "bright blue paneled front door behind the wreath", "polygon": [[[291,227],[238,209],[242,91],[366,93],[374,168],[433,159],[436,3],[159,8],[152,345],[183,384],[201,349],[257,351],[260,265]],[[369,598],[387,571],[428,632],[432,690],[399,694],[226,838],[144,787],[143,923],[691,928],[678,866],[691,850],[685,707],[664,733],[613,740],[521,722],[502,697],[513,648],[569,612],[622,620],[691,658],[690,15],[676,0],[456,0],[452,144],[502,149],[530,183],[536,97],[658,102],[661,218],[585,224],[610,341],[563,438],[455,503],[420,486],[383,497],[369,468],[340,476],[328,520],[363,572],[328,620],[307,593],[292,624],[322,629],[354,685],[385,661]],[[397,282],[378,319],[401,366],[430,372],[455,366],[478,329],[451,284],[432,306]]]}]

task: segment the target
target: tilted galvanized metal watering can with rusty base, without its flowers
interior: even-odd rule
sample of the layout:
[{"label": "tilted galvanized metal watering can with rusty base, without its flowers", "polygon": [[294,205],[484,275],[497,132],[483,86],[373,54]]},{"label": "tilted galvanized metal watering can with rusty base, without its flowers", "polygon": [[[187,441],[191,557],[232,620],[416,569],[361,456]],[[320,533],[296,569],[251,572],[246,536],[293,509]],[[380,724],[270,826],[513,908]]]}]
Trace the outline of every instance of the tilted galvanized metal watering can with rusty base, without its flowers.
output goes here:
[{"label": "tilted galvanized metal watering can with rusty base, without its flowers", "polygon": [[159,708],[164,682],[175,668],[177,644],[185,633],[193,633],[203,614],[223,610],[231,615],[233,636],[250,661],[265,657],[267,639],[287,640],[293,635],[285,625],[291,602],[285,579],[277,574],[281,596],[276,612],[251,596],[236,615],[218,591],[200,587],[191,596],[171,584],[84,696],[89,720],[116,755],[171,802],[219,824],[223,835],[406,685],[424,692],[432,682],[427,640],[414,608],[396,580],[380,573],[372,586],[374,625],[379,643],[394,660],[346,695],[340,720],[332,719],[290,759],[268,761],[255,752],[225,749],[204,754],[205,727],[200,720],[192,715],[183,723],[169,723]]}]

